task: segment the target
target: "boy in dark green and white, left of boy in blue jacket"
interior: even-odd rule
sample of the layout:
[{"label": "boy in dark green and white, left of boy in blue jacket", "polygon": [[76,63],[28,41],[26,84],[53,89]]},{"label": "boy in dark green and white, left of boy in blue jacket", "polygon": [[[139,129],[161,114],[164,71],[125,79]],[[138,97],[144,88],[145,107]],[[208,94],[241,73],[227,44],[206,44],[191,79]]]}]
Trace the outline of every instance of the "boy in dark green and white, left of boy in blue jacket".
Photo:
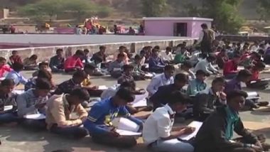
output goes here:
[{"label": "boy in dark green and white, left of boy in blue jacket", "polygon": [[135,55],[134,62],[131,63],[131,65],[134,67],[132,71],[132,76],[134,77],[134,80],[145,80],[146,78],[148,78],[146,77],[146,72],[142,70],[140,55]]}]

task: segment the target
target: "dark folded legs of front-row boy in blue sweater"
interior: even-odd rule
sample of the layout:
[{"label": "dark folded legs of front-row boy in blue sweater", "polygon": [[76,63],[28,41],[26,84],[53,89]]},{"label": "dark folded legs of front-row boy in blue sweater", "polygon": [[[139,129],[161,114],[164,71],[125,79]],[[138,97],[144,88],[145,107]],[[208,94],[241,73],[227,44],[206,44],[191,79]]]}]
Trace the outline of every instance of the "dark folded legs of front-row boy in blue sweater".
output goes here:
[{"label": "dark folded legs of front-row boy in blue sweater", "polygon": [[136,146],[137,141],[132,136],[111,136],[109,134],[92,136],[92,141],[95,143],[113,146],[117,148],[131,148]]}]

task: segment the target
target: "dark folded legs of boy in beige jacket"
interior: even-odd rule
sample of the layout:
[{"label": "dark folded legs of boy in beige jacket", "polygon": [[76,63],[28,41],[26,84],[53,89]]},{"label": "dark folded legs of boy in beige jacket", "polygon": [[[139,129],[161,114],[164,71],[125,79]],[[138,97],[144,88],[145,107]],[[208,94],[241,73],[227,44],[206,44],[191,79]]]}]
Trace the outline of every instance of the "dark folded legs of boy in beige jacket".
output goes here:
[{"label": "dark folded legs of boy in beige jacket", "polygon": [[82,139],[88,135],[87,129],[80,126],[71,126],[71,127],[58,127],[53,125],[50,128],[50,132],[53,134],[59,134],[60,136],[67,137],[69,139]]}]

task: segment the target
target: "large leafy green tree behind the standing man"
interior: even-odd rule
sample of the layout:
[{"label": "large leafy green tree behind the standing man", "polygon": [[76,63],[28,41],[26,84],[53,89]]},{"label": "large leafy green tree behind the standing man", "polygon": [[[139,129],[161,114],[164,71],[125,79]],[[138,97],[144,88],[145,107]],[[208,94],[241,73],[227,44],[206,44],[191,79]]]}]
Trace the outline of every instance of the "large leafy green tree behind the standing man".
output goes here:
[{"label": "large leafy green tree behind the standing man", "polygon": [[190,6],[185,8],[190,16],[213,18],[213,24],[220,31],[236,33],[243,22],[238,12],[239,4],[239,0],[202,0],[201,6],[188,4]]}]

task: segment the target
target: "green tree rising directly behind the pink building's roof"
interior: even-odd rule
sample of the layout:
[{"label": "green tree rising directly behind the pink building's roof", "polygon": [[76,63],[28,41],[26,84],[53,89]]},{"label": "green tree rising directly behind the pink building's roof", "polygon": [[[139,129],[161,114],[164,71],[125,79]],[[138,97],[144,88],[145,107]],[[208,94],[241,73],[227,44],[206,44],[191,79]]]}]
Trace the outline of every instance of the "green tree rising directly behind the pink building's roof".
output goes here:
[{"label": "green tree rising directly behind the pink building's roof", "polygon": [[141,0],[142,13],[146,17],[163,16],[168,11],[167,0]]}]

